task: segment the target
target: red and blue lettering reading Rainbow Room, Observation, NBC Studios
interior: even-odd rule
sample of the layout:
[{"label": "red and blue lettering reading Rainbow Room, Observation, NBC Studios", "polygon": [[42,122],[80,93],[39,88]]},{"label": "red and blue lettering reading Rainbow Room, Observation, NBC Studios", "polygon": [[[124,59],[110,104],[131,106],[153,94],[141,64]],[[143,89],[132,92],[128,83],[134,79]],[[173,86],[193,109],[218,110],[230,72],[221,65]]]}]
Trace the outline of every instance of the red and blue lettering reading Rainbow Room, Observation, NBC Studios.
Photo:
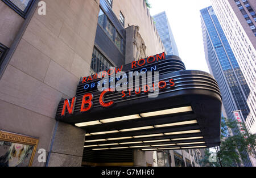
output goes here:
[{"label": "red and blue lettering reading Rainbow Room, Observation, NBC Studios", "polygon": [[[81,83],[84,84],[85,94],[82,96],[81,102],[79,103],[76,102],[77,97],[73,97],[72,99],[66,99],[63,104],[61,116],[65,116],[66,113],[72,115],[74,112],[74,108],[76,107],[77,104],[80,106],[81,113],[90,111],[90,109],[92,109],[93,107],[95,98],[94,98],[93,92],[89,92],[89,91],[94,90],[95,92],[98,89],[98,87],[102,86],[102,84],[103,85],[109,84],[111,82],[120,80],[121,74],[119,73],[121,73],[123,69],[125,69],[126,71],[125,73],[122,73],[122,78],[124,77],[133,78],[133,77],[139,76],[140,73],[144,74],[144,73],[147,73],[147,71],[156,71],[158,69],[158,65],[156,65],[155,63],[165,59],[166,59],[166,56],[164,53],[156,54],[155,56],[150,56],[146,59],[134,61],[125,66],[116,67],[108,71],[102,71],[98,74],[90,75],[89,77],[84,77]],[[129,70],[133,70],[133,71],[129,71]],[[108,78],[105,79],[105,77],[108,77]],[[101,78],[104,78],[104,79],[99,80]],[[94,80],[98,80],[98,81],[94,82]],[[106,95],[113,93],[117,86],[111,86],[110,84],[109,88],[104,88],[104,91],[103,90],[101,91],[100,98],[98,98],[97,100],[102,107],[109,108],[115,104],[114,101],[108,101],[108,102],[104,101],[104,98]],[[128,87],[128,84],[127,84],[127,87]],[[175,87],[174,79],[170,78],[168,79],[168,82],[166,82],[166,80],[161,80],[158,83],[150,83],[150,84],[141,83],[141,86],[127,88],[127,90],[120,91],[119,92],[120,95],[118,96],[119,98],[127,99],[132,96],[139,96],[141,94],[150,94],[152,92],[155,92],[155,90],[166,90],[166,89],[172,89],[174,87]]]}]

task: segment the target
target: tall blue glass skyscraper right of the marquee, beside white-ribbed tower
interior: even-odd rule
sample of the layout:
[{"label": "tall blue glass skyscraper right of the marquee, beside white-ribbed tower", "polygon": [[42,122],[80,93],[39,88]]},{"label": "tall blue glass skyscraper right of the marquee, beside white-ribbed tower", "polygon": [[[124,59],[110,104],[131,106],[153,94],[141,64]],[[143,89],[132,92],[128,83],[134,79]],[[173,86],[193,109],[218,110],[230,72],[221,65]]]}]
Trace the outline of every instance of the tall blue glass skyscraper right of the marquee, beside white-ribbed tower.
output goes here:
[{"label": "tall blue glass skyscraper right of the marquee, beside white-ribbed tower", "polygon": [[[210,6],[200,12],[205,58],[210,73],[214,75],[220,87],[224,116],[234,121],[236,118],[233,111],[240,110],[243,118],[246,118],[250,113],[246,102],[250,89],[213,8]],[[232,134],[239,134],[239,131],[232,129]],[[249,157],[243,160],[243,165],[252,166]]]}]

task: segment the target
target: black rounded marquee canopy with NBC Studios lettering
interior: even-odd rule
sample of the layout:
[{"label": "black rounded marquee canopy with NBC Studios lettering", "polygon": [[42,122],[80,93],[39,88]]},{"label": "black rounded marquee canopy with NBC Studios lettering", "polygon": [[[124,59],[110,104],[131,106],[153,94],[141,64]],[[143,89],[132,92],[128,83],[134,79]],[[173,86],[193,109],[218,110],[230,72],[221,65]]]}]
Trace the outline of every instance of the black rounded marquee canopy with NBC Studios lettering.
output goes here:
[{"label": "black rounded marquee canopy with NBC Studios lettering", "polygon": [[179,57],[164,53],[117,69],[121,68],[127,75],[158,71],[159,96],[148,98],[143,91],[103,93],[95,87],[102,79],[83,78],[76,97],[60,101],[56,120],[85,129],[85,149],[152,151],[220,145],[222,99],[212,75],[185,70]]}]

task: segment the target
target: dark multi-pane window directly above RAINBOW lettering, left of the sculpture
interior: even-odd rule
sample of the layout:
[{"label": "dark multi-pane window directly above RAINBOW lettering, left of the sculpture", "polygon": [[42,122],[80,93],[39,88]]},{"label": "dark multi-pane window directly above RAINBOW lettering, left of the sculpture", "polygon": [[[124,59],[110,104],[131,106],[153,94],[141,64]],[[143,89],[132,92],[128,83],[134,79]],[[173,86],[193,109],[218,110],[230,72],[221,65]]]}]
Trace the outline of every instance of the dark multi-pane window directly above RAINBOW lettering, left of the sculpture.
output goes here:
[{"label": "dark multi-pane window directly above RAINBOW lettering, left of the sculpture", "polygon": [[90,68],[92,68],[95,73],[100,73],[101,71],[108,71],[110,67],[113,67],[113,65],[97,48],[94,48]]}]

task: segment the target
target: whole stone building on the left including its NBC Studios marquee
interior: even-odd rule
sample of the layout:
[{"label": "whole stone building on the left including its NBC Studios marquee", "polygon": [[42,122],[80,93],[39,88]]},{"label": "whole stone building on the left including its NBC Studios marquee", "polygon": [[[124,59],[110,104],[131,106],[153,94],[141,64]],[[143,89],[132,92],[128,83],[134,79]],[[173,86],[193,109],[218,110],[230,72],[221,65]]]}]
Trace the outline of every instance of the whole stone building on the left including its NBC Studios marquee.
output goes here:
[{"label": "whole stone building on the left including its NBC Studios marquee", "polygon": [[[197,149],[220,143],[221,95],[218,87],[199,89],[201,82],[216,83],[208,73],[187,71],[179,57],[162,54],[164,45],[145,1],[44,1],[46,15],[38,14],[39,0],[0,1],[0,167],[200,166],[203,156]],[[137,62],[130,56],[149,57]],[[100,100],[112,96],[97,85],[112,66],[119,66],[114,73],[158,70],[168,86],[159,87],[160,97],[154,99],[146,92],[126,99],[116,92],[113,107],[103,107]],[[96,78],[86,77],[91,71],[98,73]],[[92,80],[80,80],[85,78]],[[92,96],[93,104],[81,104],[90,107],[88,112],[78,103],[86,99],[84,92]],[[77,99],[69,100],[73,96]],[[74,124],[59,120],[62,102],[60,119],[72,115],[65,107],[71,103],[79,107],[71,109],[72,116],[77,110],[90,117]],[[201,105],[207,112],[197,109]],[[100,118],[106,122],[97,125]],[[117,132],[109,132],[112,128]],[[20,159],[9,159],[16,143],[23,147]],[[45,151],[46,162],[38,159],[39,150]]]}]

